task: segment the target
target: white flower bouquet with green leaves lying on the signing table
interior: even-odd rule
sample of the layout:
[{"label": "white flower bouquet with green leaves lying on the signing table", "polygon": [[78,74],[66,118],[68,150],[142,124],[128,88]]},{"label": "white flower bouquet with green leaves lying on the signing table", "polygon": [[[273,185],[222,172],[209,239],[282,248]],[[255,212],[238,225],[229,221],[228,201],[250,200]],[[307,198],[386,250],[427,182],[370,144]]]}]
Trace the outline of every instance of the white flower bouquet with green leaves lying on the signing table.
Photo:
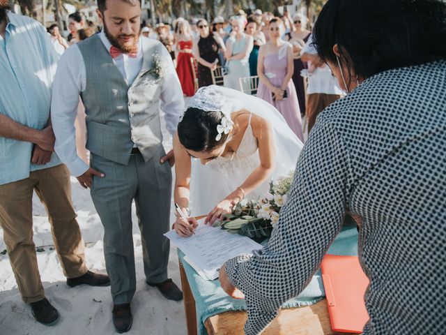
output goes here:
[{"label": "white flower bouquet with green leaves lying on the signing table", "polygon": [[287,193],[293,183],[294,171],[270,182],[270,191],[258,201],[242,200],[234,207],[226,220],[214,223],[231,233],[245,235],[256,241],[270,237],[279,221],[279,212],[286,202]]}]

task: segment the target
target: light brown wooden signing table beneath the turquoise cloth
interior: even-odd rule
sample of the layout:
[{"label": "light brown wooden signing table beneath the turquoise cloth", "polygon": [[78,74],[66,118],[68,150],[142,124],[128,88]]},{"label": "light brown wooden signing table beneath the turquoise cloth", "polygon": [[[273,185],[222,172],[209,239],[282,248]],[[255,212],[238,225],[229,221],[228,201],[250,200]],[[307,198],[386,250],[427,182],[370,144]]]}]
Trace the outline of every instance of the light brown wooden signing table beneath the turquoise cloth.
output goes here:
[{"label": "light brown wooden signing table beneath the turquoise cloth", "polygon": [[[180,262],[181,285],[183,286],[187,335],[197,335],[197,313],[195,299],[190,290],[187,276]],[[240,335],[247,319],[245,311],[229,311],[213,315],[204,322],[208,335]],[[277,318],[263,332],[264,335],[334,335],[328,317],[327,300],[312,306],[282,309]],[[346,333],[342,333],[346,334]]]}]

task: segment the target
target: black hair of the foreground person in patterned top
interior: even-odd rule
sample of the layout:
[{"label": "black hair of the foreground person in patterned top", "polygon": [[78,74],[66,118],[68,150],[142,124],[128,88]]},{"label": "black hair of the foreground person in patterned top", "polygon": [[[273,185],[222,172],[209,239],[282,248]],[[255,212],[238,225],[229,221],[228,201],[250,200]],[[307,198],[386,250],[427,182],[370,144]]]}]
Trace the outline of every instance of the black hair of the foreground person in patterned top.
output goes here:
[{"label": "black hair of the foreground person in patterned top", "polygon": [[[328,0],[314,24],[319,57],[362,78],[446,59],[446,3],[441,0]],[[348,78],[353,79],[350,73]]]}]

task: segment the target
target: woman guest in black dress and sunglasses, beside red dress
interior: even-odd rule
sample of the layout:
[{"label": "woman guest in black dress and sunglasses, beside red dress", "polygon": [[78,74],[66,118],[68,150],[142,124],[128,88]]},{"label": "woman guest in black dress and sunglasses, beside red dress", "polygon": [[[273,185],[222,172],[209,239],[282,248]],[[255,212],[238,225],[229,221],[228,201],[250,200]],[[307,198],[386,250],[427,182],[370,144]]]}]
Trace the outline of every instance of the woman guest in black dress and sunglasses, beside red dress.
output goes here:
[{"label": "woman guest in black dress and sunglasses, beside red dress", "polygon": [[206,20],[199,19],[197,27],[200,35],[193,40],[192,54],[198,63],[199,87],[204,87],[213,84],[210,70],[215,70],[221,65],[218,52],[226,51],[226,47],[218,34],[210,33]]}]

